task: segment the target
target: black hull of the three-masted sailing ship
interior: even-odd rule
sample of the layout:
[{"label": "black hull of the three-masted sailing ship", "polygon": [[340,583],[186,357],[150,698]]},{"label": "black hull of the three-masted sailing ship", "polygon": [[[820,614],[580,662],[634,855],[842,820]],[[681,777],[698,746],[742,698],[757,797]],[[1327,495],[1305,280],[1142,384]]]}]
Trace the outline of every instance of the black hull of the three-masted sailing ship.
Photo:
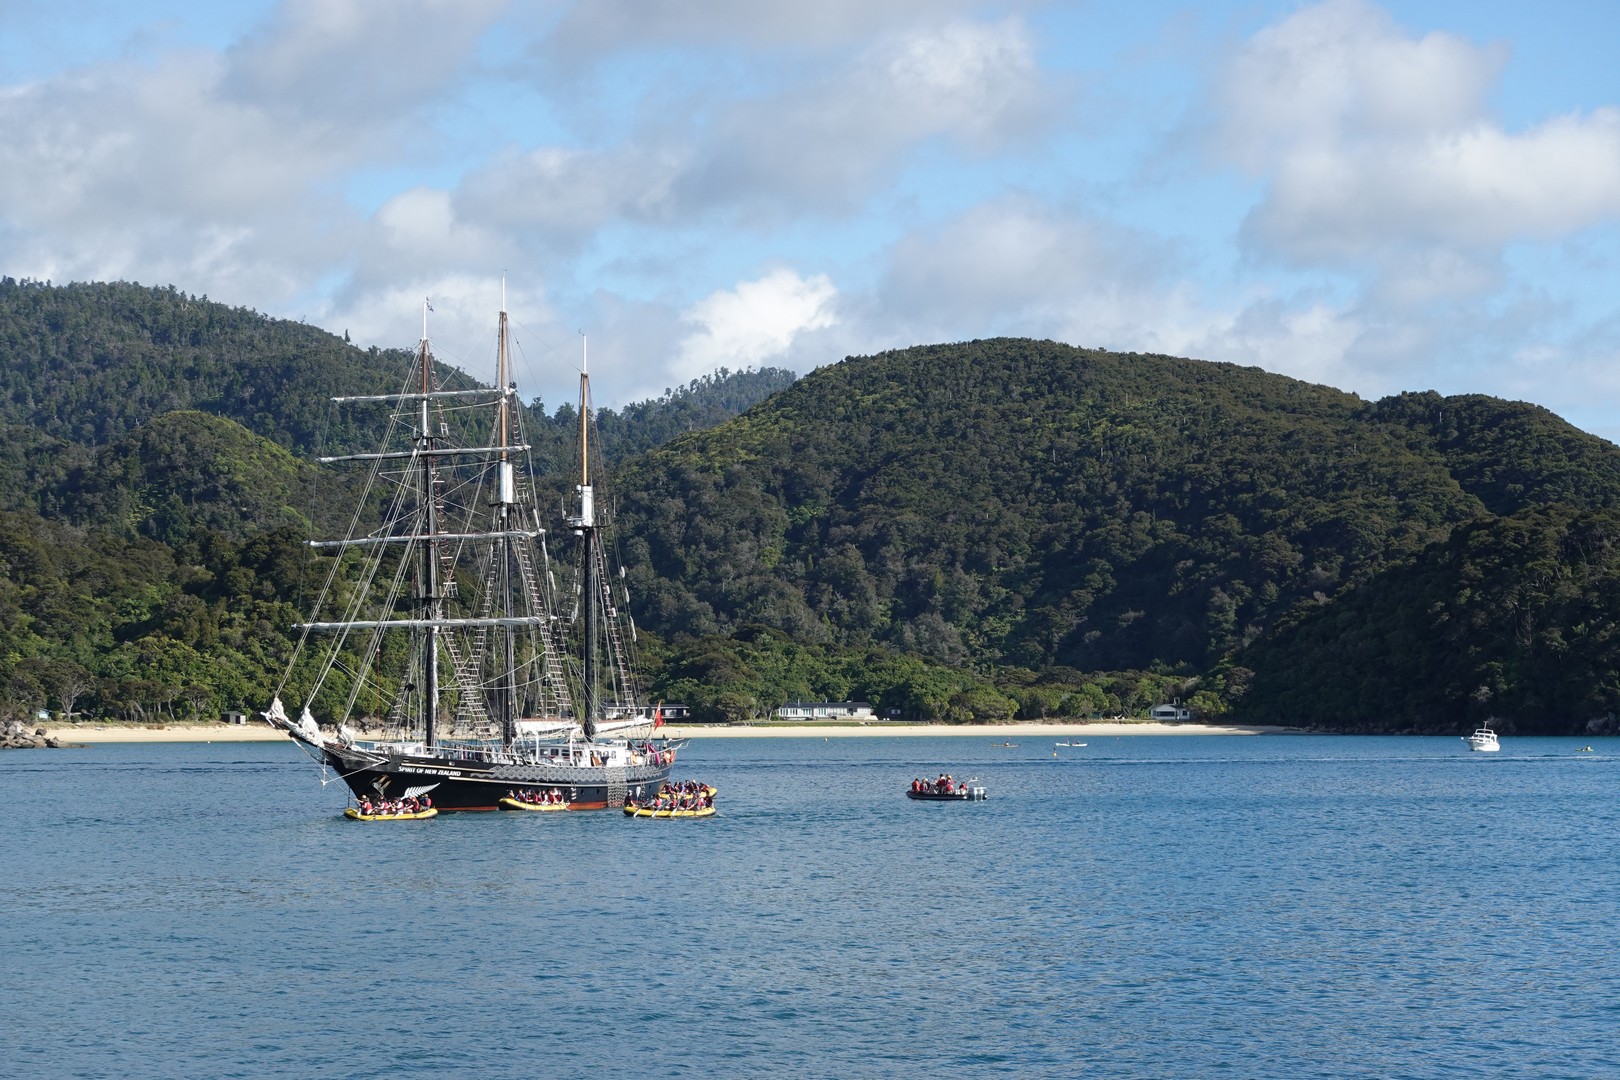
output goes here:
[{"label": "black hull of the three-masted sailing ship", "polygon": [[638,766],[570,766],[488,763],[460,758],[389,758],[322,748],[326,764],[348,789],[371,798],[428,795],[439,810],[499,810],[514,792],[562,792],[569,810],[624,806],[625,798],[646,800],[669,779],[674,753],[650,755]]}]

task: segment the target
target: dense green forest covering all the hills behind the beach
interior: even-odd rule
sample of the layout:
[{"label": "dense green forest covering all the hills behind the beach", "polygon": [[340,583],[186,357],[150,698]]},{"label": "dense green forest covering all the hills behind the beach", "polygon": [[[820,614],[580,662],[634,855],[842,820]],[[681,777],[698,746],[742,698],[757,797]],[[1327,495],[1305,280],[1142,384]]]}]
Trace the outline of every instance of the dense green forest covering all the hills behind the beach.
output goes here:
[{"label": "dense green forest covering all the hills behind the beach", "polygon": [[[355,499],[311,452],[384,423],[327,398],[407,363],[172,288],[0,280],[10,708],[262,704],[296,541]],[[526,410],[546,507],[577,421]],[[654,690],[710,719],[797,696],[948,721],[1183,698],[1364,730],[1614,709],[1620,450],[1531,405],[988,340],[723,371],[596,427]]]}]

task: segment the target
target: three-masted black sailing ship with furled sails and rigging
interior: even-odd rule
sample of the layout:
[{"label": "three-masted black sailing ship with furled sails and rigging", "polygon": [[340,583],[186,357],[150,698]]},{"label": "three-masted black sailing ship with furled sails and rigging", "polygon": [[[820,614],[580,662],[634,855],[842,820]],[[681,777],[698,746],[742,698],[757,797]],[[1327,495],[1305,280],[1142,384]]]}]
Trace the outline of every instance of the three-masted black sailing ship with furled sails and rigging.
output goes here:
[{"label": "three-masted black sailing ship with furled sails and rigging", "polygon": [[[637,682],[624,567],[593,483],[588,355],[578,483],[559,507],[573,559],[554,568],[505,304],[496,384],[478,389],[441,379],[428,311],[397,393],[334,398],[386,410],[387,434],[374,453],[319,458],[363,470],[360,508],[343,539],[311,541],[330,567],[262,716],[356,800],[497,810],[544,795],[603,810],[648,798],[682,740],[658,732],[661,711]],[[284,695],[301,701],[298,719]]]}]

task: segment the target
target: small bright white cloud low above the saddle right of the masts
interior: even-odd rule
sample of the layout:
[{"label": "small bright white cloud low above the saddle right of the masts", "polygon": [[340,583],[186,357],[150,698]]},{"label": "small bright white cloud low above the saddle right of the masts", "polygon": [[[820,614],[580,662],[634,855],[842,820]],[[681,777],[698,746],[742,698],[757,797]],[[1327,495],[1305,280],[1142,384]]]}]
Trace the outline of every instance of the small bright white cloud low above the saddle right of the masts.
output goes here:
[{"label": "small bright white cloud low above the saddle right of the masts", "polygon": [[797,335],[838,321],[836,296],[826,275],[804,279],[787,269],[711,293],[682,316],[701,329],[680,342],[674,371],[692,379],[716,368],[770,364]]}]

